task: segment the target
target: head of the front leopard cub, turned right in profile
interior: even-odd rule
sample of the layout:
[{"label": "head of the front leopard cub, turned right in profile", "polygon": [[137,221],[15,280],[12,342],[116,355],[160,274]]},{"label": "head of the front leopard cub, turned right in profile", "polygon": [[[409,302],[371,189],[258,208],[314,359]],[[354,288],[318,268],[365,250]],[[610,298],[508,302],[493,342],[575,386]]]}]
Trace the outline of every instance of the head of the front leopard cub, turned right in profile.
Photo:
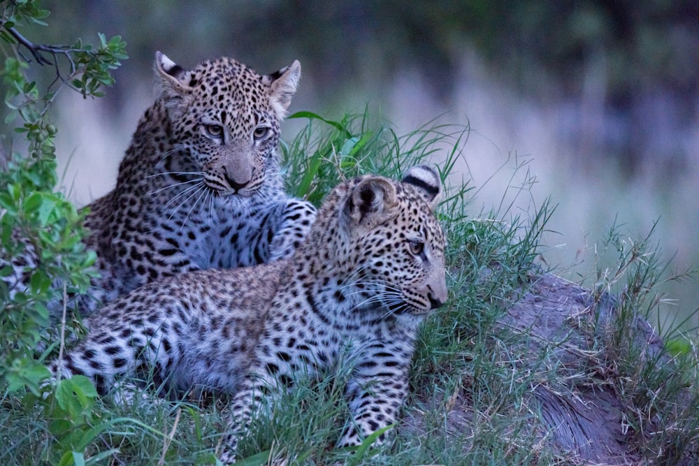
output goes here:
[{"label": "head of the front leopard cub, turned right in profile", "polygon": [[340,288],[354,289],[348,293],[354,307],[378,305],[408,318],[445,302],[445,238],[433,214],[437,187],[433,170],[415,167],[403,182],[361,177],[338,190],[329,215],[337,226],[327,228],[326,243],[331,263],[353,270]]}]

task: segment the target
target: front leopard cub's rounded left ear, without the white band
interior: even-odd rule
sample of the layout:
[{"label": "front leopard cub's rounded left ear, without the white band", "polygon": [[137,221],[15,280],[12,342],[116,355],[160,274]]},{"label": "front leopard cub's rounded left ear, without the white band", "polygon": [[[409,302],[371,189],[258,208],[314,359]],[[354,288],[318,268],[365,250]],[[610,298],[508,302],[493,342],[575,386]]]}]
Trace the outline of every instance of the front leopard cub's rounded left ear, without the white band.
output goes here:
[{"label": "front leopard cub's rounded left ear, without the white band", "polygon": [[397,203],[394,184],[385,178],[368,177],[352,189],[345,214],[350,224],[373,226],[390,217]]}]

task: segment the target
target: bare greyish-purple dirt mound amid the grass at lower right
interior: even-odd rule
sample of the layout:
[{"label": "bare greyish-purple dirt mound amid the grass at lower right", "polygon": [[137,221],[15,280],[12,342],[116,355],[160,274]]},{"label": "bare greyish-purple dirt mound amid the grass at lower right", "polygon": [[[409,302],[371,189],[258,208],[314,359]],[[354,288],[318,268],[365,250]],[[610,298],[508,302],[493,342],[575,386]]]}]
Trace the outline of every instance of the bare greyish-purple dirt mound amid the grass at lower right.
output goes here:
[{"label": "bare greyish-purple dirt mound amid the grass at lower right", "polygon": [[[498,326],[526,335],[521,367],[531,364],[542,370],[545,361],[544,371],[554,371],[555,377],[532,384],[524,401],[526,409],[541,419],[538,431],[533,432],[539,442],[572,464],[631,465],[649,460],[637,448],[639,436],[649,434],[630,426],[625,413],[633,407],[624,405],[612,381],[617,377],[613,363],[610,367],[614,355],[600,344],[619,318],[614,298],[608,293],[593,296],[591,291],[547,273],[535,277],[505,309]],[[633,338],[641,358],[672,365],[664,356],[663,342],[647,321],[633,317],[626,325],[628,338]],[[411,428],[419,430],[419,417],[410,414]],[[452,432],[470,432],[472,418],[465,388],[449,403],[446,427]],[[675,464],[693,463],[683,457]]]}]

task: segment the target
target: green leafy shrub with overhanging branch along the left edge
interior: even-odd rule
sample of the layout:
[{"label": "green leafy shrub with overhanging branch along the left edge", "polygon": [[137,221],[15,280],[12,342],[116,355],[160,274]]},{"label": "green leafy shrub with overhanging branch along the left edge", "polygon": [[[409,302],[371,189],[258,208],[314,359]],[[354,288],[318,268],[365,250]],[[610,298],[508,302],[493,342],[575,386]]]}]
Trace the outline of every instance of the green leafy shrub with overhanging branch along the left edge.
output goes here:
[{"label": "green leafy shrub with overhanging branch along the left edge", "polygon": [[[0,171],[0,278],[9,278],[0,279],[0,391],[38,393],[48,370],[34,351],[50,326],[49,309],[85,293],[94,275],[95,254],[82,242],[86,212],[56,190],[57,129],[48,110],[62,87],[102,96],[101,87],[114,82],[110,71],[127,58],[120,36],[99,34],[96,47],[80,39],[70,46],[37,45],[20,32],[45,26],[48,15],[38,0],[0,2],[5,123],[19,119],[15,132],[26,140],[26,149],[13,152]],[[37,82],[50,80],[39,79],[47,65],[55,78],[43,87]]]}]

